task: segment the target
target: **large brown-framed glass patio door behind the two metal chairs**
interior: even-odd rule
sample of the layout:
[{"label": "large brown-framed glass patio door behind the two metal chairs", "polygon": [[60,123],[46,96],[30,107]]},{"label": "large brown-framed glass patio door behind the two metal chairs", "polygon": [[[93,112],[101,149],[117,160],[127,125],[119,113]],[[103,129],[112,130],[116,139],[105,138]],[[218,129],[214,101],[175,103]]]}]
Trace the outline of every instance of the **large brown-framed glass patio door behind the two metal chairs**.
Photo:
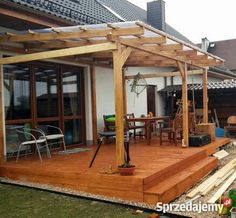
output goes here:
[{"label": "large brown-framed glass patio door behind the two metal chairs", "polygon": [[16,151],[16,129],[54,125],[66,145],[85,143],[83,68],[45,63],[4,65],[7,153]]}]

